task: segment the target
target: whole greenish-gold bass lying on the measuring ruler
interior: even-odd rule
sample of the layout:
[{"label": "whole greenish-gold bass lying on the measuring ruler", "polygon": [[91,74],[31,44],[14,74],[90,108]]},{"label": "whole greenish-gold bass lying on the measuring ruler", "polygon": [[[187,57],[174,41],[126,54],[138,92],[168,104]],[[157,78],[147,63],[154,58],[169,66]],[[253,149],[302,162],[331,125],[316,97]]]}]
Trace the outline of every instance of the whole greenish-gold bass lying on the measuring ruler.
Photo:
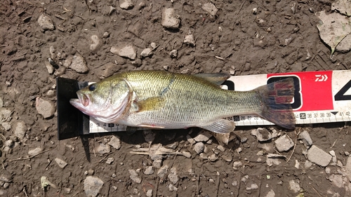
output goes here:
[{"label": "whole greenish-gold bass lying on the measuring ruler", "polygon": [[235,123],[227,117],[257,114],[283,128],[295,128],[290,104],[293,79],[249,91],[220,88],[229,77],[225,73],[121,72],[78,90],[78,98],[69,102],[98,121],[130,127],[198,127],[230,133]]}]

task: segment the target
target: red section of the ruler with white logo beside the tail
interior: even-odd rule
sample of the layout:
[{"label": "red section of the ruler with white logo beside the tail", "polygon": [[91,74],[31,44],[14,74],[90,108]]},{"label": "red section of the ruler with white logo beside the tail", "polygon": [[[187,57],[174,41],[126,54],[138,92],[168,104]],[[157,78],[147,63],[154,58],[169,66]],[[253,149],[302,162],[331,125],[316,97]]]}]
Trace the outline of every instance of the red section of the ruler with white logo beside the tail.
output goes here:
[{"label": "red section of the ruler with white logo beside the tail", "polygon": [[298,78],[300,84],[296,84],[294,80],[296,88],[294,100],[300,100],[300,107],[294,107],[294,111],[330,110],[333,109],[332,73],[333,71],[267,74],[267,79],[274,76]]}]

